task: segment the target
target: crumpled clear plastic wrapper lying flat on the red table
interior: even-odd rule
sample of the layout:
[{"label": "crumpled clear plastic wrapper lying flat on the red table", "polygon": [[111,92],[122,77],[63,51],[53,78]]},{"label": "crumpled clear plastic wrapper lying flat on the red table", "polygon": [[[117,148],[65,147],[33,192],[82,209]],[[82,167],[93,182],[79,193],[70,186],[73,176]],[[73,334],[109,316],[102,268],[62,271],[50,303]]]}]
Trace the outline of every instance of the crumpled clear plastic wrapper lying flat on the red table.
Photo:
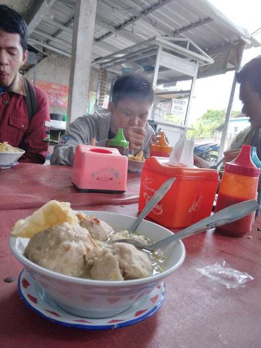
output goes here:
[{"label": "crumpled clear plastic wrapper lying flat on the red table", "polygon": [[220,284],[224,284],[228,289],[235,288],[238,286],[245,287],[245,283],[254,278],[245,272],[241,272],[232,269],[226,261],[221,264],[216,262],[211,266],[205,266],[203,268],[197,268],[197,272],[203,274],[208,278],[217,281]]}]

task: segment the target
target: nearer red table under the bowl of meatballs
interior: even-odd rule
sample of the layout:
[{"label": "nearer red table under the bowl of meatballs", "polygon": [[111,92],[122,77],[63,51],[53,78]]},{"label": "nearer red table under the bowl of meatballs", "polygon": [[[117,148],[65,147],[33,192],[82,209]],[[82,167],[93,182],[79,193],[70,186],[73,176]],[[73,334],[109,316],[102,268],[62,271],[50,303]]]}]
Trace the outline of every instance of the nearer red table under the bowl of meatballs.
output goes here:
[{"label": "nearer red table under the bowl of meatballs", "polygon": [[[90,207],[79,206],[87,208]],[[137,216],[138,204],[94,205],[91,209]],[[187,251],[184,264],[167,278],[166,300],[153,316],[122,329],[85,331],[43,319],[18,296],[17,279],[22,265],[8,250],[8,236],[14,222],[34,210],[0,211],[1,347],[260,347],[261,217],[255,222],[252,238],[231,238],[208,231],[184,239]],[[252,275],[254,280],[245,287],[227,289],[195,270],[223,259],[233,268]],[[4,283],[7,276],[13,276],[15,282]]]}]

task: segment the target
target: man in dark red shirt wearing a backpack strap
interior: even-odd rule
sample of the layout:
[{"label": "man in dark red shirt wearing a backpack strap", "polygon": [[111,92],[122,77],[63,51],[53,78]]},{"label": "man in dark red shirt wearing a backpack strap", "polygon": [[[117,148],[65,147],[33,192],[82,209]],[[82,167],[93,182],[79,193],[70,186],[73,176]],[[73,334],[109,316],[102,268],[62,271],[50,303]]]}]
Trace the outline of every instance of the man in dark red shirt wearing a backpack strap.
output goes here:
[{"label": "man in dark red shirt wearing a backpack strap", "polygon": [[37,111],[29,119],[25,80],[19,73],[28,57],[28,26],[14,10],[0,5],[0,142],[25,151],[20,162],[44,163],[48,149],[49,105],[34,87]]}]

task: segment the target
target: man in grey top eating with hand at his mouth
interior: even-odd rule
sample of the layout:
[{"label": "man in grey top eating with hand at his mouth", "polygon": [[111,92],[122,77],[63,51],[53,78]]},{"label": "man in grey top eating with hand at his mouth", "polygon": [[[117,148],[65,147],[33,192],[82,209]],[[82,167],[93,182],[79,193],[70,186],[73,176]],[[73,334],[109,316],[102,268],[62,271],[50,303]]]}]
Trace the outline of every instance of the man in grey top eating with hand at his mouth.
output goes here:
[{"label": "man in grey top eating with hand at his mouth", "polygon": [[94,112],[72,122],[60,144],[55,146],[50,164],[72,166],[78,144],[90,144],[95,138],[97,146],[106,146],[107,139],[114,138],[119,128],[124,130],[129,149],[143,150],[148,157],[154,131],[147,118],[153,97],[152,87],[143,76],[130,74],[118,78],[113,86],[109,112]]}]

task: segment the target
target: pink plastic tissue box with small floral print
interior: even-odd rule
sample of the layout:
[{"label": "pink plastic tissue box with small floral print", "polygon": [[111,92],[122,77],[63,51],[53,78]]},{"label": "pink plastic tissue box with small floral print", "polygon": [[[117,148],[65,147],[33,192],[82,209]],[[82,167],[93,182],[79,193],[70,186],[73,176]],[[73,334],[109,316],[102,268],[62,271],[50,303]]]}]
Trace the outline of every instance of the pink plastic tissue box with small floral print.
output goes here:
[{"label": "pink plastic tissue box with small floral print", "polygon": [[121,193],[127,186],[128,158],[117,149],[78,145],[72,183],[83,192]]}]

